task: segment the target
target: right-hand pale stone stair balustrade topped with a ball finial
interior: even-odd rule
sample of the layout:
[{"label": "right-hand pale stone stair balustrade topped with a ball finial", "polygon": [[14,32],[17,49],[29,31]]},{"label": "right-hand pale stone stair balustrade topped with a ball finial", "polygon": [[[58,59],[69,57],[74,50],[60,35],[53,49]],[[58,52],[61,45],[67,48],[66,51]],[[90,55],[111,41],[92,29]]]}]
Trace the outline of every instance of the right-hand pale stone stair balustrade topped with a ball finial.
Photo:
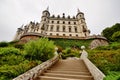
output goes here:
[{"label": "right-hand pale stone stair balustrade topped with a ball finial", "polygon": [[85,47],[81,47],[83,49],[81,54],[81,59],[86,64],[88,70],[94,77],[94,80],[103,80],[105,75],[102,71],[100,71],[89,59],[88,59],[88,53],[85,51]]}]

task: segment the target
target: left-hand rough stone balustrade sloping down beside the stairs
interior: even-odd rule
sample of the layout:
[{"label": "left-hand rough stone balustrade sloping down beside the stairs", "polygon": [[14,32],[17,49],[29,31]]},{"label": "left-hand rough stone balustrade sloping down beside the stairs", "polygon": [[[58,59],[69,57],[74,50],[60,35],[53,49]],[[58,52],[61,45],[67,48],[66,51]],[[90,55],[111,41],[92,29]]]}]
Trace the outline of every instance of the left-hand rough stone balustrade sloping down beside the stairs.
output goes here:
[{"label": "left-hand rough stone balustrade sloping down beside the stairs", "polygon": [[22,75],[14,78],[13,80],[33,80],[38,75],[42,74],[45,70],[47,70],[50,66],[55,64],[59,60],[59,56],[55,55],[52,59],[43,62],[42,64],[34,67],[33,69],[23,73]]}]

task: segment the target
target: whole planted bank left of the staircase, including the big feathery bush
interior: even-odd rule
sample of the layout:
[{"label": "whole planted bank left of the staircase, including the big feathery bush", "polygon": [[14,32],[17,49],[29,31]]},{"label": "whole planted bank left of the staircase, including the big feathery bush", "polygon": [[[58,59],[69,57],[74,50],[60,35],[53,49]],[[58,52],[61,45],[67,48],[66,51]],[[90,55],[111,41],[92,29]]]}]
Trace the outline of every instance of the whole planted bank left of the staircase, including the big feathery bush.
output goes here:
[{"label": "whole planted bank left of the staircase, including the big feathery bush", "polygon": [[24,44],[0,42],[0,80],[11,80],[54,56],[54,43],[46,38]]}]

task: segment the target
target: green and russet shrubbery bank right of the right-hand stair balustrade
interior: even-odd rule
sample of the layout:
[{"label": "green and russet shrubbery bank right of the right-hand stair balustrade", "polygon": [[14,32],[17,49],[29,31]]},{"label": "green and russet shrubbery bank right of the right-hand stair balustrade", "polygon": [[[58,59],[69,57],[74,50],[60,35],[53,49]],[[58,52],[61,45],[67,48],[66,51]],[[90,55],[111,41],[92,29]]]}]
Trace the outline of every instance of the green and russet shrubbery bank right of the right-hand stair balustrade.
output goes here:
[{"label": "green and russet shrubbery bank right of the right-hand stair balustrade", "polygon": [[106,74],[104,80],[120,80],[120,43],[112,42],[88,53],[89,59]]}]

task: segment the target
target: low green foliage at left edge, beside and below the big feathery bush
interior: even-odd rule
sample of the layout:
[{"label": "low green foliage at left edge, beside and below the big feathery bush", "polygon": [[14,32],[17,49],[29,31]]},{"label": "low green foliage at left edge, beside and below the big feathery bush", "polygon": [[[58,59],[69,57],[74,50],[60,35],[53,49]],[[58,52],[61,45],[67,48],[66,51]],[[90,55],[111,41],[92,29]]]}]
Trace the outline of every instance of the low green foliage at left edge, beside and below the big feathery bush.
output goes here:
[{"label": "low green foliage at left edge, beside and below the big feathery bush", "polygon": [[0,48],[0,80],[10,80],[40,63],[25,59],[24,53],[17,48]]}]

